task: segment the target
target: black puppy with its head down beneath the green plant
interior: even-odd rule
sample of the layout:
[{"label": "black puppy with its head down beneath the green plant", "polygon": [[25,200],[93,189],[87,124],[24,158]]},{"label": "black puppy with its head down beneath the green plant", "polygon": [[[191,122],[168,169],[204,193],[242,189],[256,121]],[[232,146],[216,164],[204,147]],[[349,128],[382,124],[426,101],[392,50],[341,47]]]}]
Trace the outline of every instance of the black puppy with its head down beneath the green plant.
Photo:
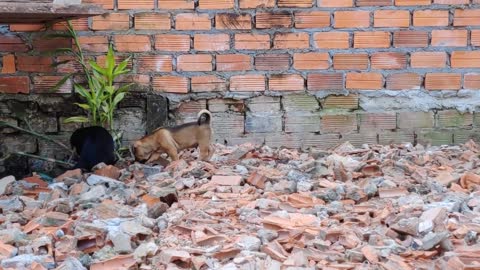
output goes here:
[{"label": "black puppy with its head down beneath the green plant", "polygon": [[103,127],[93,126],[75,130],[70,145],[80,156],[75,169],[90,171],[98,163],[115,164],[113,137]]}]

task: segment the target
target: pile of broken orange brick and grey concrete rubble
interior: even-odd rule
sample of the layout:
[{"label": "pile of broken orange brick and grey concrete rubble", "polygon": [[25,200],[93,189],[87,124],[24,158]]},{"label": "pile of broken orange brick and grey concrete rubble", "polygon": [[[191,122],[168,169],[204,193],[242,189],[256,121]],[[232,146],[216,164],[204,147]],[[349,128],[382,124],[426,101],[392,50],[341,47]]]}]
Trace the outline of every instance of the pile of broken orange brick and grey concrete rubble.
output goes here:
[{"label": "pile of broken orange brick and grey concrete rubble", "polygon": [[216,146],[0,179],[0,269],[479,269],[480,148]]}]

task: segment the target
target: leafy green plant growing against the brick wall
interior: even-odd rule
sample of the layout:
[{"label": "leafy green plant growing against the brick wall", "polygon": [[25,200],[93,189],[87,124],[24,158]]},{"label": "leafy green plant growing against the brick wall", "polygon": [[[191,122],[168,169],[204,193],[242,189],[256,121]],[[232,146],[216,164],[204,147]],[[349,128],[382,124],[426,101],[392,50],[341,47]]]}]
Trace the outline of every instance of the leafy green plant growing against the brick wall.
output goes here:
[{"label": "leafy green plant growing against the brick wall", "polygon": [[[108,48],[105,65],[101,66],[98,62],[85,58],[82,47],[78,39],[78,35],[72,27],[70,21],[67,22],[67,33],[53,34],[50,37],[68,37],[72,38],[75,44],[73,48],[57,49],[55,53],[67,53],[73,56],[73,61],[80,64],[85,75],[86,85],[74,83],[75,92],[82,97],[84,103],[75,103],[86,111],[87,116],[74,116],[67,118],[66,123],[89,123],[90,125],[100,125],[110,130],[113,134],[117,146],[121,138],[121,133],[114,130],[113,117],[117,105],[125,98],[131,84],[117,86],[114,84],[115,79],[123,74],[130,72],[127,68],[130,57],[116,63],[115,53],[111,46]],[[66,64],[72,60],[66,60],[56,65]],[[66,75],[52,89],[58,90],[66,81],[68,81],[74,73]]]}]

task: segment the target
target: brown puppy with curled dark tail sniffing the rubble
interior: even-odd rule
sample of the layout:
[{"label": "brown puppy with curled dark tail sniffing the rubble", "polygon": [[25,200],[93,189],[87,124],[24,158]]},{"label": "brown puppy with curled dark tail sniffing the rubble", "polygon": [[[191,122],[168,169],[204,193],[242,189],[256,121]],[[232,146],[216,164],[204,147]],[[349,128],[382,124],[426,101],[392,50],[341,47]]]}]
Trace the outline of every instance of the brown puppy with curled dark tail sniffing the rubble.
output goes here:
[{"label": "brown puppy with curled dark tail sniffing the rubble", "polygon": [[208,161],[213,155],[212,114],[207,110],[198,113],[196,122],[175,127],[156,129],[133,144],[135,160],[150,163],[161,160],[161,154],[167,153],[172,161],[178,160],[178,152],[192,147],[200,148],[200,159]]}]

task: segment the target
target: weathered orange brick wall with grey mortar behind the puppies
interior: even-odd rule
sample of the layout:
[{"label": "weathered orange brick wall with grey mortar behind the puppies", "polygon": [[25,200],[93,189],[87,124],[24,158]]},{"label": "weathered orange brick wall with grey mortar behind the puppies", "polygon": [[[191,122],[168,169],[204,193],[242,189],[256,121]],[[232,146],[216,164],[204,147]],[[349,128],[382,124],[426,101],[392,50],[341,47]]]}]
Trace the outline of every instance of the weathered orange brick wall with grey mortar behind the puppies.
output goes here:
[{"label": "weathered orange brick wall with grey mortar behind the puppies", "polygon": [[[108,44],[119,59],[133,56],[132,74],[119,81],[136,83],[117,117],[126,141],[202,108],[214,114],[217,141],[228,144],[443,144],[480,136],[479,0],[84,2],[110,11],[74,22],[88,56],[104,59]],[[72,82],[57,94],[48,89],[78,67],[52,67],[65,56],[44,52],[72,41],[46,40],[43,28],[0,26],[0,119],[17,123],[13,105],[21,103],[32,126],[68,139],[74,127],[62,120],[77,112]],[[58,153],[0,132],[3,148]],[[26,162],[34,161],[10,163]]]}]

